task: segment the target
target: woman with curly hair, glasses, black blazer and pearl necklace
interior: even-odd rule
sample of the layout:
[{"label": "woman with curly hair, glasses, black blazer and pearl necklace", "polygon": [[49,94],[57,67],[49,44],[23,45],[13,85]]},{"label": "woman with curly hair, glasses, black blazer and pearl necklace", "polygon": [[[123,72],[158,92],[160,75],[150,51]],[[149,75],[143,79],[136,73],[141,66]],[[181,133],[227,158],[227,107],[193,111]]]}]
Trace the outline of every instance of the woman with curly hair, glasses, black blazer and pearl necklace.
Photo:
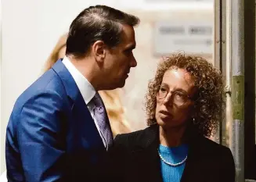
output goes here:
[{"label": "woman with curly hair, glasses, black blazer and pearl necklace", "polygon": [[207,138],[218,127],[222,94],[222,75],[206,59],[165,58],[146,94],[149,127],[115,138],[117,180],[234,182],[230,149]]}]

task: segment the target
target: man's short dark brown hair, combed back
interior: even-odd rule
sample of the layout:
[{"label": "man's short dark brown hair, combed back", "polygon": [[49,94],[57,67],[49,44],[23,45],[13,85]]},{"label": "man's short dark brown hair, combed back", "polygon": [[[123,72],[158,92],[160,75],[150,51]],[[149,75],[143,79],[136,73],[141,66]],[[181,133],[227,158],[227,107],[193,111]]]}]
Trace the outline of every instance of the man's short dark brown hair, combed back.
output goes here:
[{"label": "man's short dark brown hair, combed back", "polygon": [[139,18],[106,5],[88,7],[70,25],[66,55],[82,58],[96,41],[113,48],[121,42],[122,24],[134,27]]}]

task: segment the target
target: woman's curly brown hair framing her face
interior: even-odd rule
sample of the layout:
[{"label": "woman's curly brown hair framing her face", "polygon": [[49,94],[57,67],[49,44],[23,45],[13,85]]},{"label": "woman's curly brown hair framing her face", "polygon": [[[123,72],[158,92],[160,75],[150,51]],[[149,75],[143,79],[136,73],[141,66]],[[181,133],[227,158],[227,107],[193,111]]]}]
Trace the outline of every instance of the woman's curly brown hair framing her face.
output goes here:
[{"label": "woman's curly brown hair framing her face", "polygon": [[[157,123],[155,119],[157,92],[160,89],[164,73],[172,67],[185,69],[193,77],[197,87],[193,125],[197,127],[200,134],[210,137],[215,133],[221,117],[220,113],[224,103],[223,79],[220,71],[199,56],[179,53],[164,58],[163,62],[158,65],[157,73],[154,79],[150,80],[146,93],[147,124],[150,126]],[[212,131],[214,132],[212,133]]]}]

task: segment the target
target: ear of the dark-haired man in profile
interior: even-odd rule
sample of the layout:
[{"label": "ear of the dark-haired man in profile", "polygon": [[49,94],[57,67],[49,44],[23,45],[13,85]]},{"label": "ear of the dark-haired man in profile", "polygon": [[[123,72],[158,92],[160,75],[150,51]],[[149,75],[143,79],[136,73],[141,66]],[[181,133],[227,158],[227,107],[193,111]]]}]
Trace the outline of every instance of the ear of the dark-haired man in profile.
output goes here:
[{"label": "ear of the dark-haired man in profile", "polygon": [[103,41],[96,41],[92,45],[92,54],[97,62],[103,62],[106,57],[106,45]]}]

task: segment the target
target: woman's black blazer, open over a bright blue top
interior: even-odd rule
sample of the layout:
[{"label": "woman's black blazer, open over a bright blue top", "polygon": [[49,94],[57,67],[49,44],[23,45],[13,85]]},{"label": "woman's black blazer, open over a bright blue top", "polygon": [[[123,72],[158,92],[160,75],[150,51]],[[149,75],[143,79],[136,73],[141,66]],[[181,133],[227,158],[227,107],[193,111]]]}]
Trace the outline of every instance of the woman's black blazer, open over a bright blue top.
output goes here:
[{"label": "woman's black blazer, open over a bright blue top", "polygon": [[[159,127],[153,125],[130,134],[119,134],[110,149],[116,181],[162,182]],[[189,153],[181,182],[234,182],[235,165],[229,148],[198,134],[189,140]]]}]

